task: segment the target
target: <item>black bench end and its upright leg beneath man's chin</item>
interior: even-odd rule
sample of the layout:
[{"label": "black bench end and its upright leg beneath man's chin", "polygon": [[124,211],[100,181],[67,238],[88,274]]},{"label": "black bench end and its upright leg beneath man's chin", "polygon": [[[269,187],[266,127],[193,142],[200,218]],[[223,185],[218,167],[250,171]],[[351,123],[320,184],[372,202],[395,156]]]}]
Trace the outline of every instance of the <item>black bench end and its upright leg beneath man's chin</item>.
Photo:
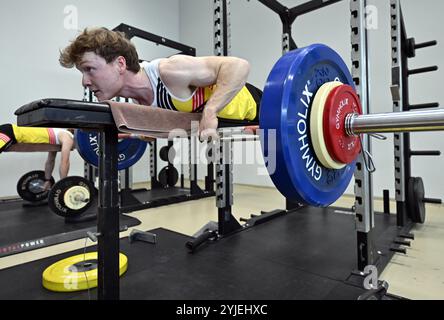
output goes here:
[{"label": "black bench end and its upright leg beneath man's chin", "polygon": [[119,298],[118,131],[108,104],[43,99],[15,113],[18,125],[99,131],[98,297]]}]

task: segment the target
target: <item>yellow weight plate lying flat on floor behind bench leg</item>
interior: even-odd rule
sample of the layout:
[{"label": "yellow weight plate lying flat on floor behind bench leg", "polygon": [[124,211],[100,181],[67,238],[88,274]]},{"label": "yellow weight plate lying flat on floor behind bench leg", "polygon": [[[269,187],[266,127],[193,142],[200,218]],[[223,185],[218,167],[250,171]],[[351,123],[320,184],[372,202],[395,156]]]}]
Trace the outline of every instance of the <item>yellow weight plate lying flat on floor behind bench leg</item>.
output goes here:
[{"label": "yellow weight plate lying flat on floor behind bench leg", "polygon": [[[97,287],[97,252],[60,260],[43,271],[43,287],[56,292],[73,292]],[[128,268],[128,258],[119,254],[119,275]]]}]

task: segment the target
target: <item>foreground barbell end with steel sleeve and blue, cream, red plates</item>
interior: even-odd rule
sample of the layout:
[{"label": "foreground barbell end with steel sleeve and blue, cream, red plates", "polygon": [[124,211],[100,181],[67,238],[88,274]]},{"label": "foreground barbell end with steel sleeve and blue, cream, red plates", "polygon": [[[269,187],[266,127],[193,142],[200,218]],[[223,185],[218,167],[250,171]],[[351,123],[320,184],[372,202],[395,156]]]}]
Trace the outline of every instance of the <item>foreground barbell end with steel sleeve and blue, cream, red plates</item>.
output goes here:
[{"label": "foreground barbell end with steel sleeve and blue, cream, red plates", "polygon": [[346,64],[323,44],[290,51],[276,62],[259,119],[264,158],[276,159],[266,166],[276,188],[288,200],[321,207],[349,185],[361,134],[444,130],[442,109],[362,114]]}]

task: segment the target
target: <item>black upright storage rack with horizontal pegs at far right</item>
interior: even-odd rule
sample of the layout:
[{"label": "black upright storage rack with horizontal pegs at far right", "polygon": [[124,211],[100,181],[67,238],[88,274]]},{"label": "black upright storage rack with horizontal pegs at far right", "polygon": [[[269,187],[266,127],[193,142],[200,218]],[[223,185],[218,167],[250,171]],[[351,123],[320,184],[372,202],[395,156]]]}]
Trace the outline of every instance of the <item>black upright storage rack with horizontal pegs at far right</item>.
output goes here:
[{"label": "black upright storage rack with horizontal pegs at far right", "polygon": [[[436,45],[436,41],[424,43],[415,43],[414,38],[408,38],[400,0],[390,1],[391,18],[391,43],[392,43],[392,85],[391,93],[393,100],[393,111],[403,112],[414,109],[436,108],[439,104],[424,103],[412,105],[409,102],[409,81],[410,75],[420,74],[438,69],[437,66],[409,69],[408,59],[415,57],[416,50]],[[394,156],[395,156],[395,198],[397,225],[408,231],[411,220],[409,219],[409,210],[407,206],[407,194],[409,189],[409,180],[411,176],[411,157],[412,156],[439,156],[440,151],[414,151],[410,148],[410,133],[396,133],[394,135]],[[423,202],[441,203],[439,199],[424,199]],[[404,237],[413,238],[413,235],[404,233]],[[405,253],[405,249],[395,250]]]}]

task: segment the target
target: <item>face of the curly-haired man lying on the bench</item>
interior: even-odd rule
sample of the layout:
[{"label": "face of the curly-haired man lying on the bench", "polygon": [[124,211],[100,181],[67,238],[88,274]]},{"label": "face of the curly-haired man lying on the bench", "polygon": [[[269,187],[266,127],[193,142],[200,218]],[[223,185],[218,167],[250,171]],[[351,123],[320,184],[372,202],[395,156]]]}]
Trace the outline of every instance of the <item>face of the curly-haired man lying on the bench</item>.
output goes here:
[{"label": "face of the curly-haired man lying on the bench", "polygon": [[99,101],[118,95],[121,86],[121,67],[118,59],[107,63],[94,52],[85,52],[76,66],[82,73],[82,85],[88,87]]}]

